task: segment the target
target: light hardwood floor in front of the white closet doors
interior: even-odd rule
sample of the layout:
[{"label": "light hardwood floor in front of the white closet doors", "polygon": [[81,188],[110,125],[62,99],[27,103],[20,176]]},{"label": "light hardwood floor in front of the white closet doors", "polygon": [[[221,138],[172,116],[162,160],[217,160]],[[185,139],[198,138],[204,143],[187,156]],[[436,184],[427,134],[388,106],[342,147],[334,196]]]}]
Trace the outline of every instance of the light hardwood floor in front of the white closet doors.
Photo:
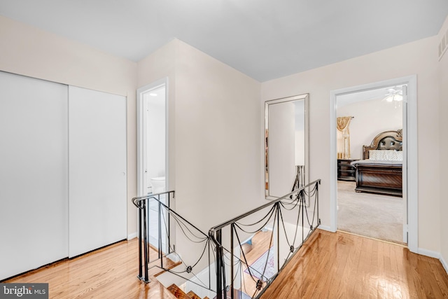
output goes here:
[{"label": "light hardwood floor in front of the white closet doors", "polygon": [[139,274],[137,239],[48,265],[3,282],[46,282],[50,298],[176,298],[157,279]]}]

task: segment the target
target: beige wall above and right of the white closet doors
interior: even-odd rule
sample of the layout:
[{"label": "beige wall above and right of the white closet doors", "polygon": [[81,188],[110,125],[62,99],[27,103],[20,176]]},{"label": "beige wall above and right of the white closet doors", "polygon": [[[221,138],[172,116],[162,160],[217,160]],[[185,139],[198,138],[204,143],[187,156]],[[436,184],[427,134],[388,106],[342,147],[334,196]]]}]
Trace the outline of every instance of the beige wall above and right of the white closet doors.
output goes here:
[{"label": "beige wall above and right of the white closet doors", "polygon": [[127,96],[128,234],[136,231],[137,64],[0,16],[0,70]]}]

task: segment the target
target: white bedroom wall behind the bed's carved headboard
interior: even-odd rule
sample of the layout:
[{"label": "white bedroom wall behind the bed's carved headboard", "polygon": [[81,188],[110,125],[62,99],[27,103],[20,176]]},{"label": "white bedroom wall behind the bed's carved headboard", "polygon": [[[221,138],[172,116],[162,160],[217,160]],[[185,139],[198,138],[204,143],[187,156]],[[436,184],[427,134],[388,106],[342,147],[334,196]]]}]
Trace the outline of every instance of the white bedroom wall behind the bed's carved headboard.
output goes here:
[{"label": "white bedroom wall behind the bed's carved headboard", "polygon": [[370,145],[377,134],[402,129],[402,107],[382,99],[372,99],[337,106],[337,117],[354,116],[350,121],[352,159],[363,158],[363,146]]}]

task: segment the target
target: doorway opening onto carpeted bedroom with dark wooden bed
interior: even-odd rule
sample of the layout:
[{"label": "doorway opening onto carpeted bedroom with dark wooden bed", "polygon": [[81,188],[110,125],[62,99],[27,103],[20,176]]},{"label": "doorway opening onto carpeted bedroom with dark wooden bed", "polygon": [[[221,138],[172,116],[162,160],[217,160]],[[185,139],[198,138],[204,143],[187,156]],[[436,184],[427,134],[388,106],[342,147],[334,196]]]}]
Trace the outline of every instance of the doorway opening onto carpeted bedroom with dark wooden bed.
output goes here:
[{"label": "doorway opening onto carpeted bedroom with dark wooden bed", "polygon": [[[336,97],[338,230],[407,244],[403,230],[407,200],[401,195],[400,174],[405,87],[386,86]],[[381,145],[382,151],[369,151],[371,144],[380,146],[376,138],[395,140],[391,142],[396,148]],[[369,153],[370,158],[365,157]]]}]

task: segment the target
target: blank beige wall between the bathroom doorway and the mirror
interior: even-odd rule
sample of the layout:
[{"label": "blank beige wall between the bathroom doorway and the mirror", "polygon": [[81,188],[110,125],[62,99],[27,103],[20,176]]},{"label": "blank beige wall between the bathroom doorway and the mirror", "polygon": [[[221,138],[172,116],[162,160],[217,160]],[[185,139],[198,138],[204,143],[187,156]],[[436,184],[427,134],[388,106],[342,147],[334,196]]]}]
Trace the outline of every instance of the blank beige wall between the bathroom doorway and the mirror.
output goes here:
[{"label": "blank beige wall between the bathroom doorway and the mirror", "polygon": [[179,41],[176,208],[208,230],[262,198],[260,83]]}]

